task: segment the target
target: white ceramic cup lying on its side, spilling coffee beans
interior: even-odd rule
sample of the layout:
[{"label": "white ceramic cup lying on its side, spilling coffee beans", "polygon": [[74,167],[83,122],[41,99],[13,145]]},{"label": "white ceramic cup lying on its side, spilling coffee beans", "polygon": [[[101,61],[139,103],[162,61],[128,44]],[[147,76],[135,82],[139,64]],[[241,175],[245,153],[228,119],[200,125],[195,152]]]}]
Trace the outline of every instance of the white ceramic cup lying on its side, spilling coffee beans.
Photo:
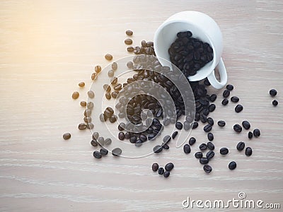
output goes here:
[{"label": "white ceramic cup lying on its side, spilling coffee beans", "polygon": [[[163,58],[163,66],[171,66],[168,49],[177,38],[177,33],[183,31],[192,32],[202,42],[207,42],[213,49],[212,61],[203,66],[194,76],[189,76],[190,81],[201,81],[208,78],[216,89],[223,88],[227,83],[227,73],[221,58],[223,50],[222,33],[217,23],[204,13],[197,11],[183,11],[175,13],[165,20],[154,34],[154,50],[156,57]],[[218,66],[220,81],[215,78],[214,69]]]}]

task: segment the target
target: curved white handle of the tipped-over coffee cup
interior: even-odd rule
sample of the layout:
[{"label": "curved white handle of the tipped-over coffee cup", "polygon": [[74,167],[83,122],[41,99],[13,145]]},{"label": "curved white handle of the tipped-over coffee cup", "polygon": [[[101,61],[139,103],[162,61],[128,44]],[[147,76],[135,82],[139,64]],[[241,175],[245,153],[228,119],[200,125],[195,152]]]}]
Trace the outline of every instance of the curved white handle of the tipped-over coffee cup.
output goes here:
[{"label": "curved white handle of the tipped-over coffee cup", "polygon": [[207,76],[209,83],[212,84],[212,86],[216,89],[223,88],[227,83],[227,72],[222,57],[220,58],[218,69],[220,74],[220,82],[216,79],[214,70],[209,74],[209,76]]}]

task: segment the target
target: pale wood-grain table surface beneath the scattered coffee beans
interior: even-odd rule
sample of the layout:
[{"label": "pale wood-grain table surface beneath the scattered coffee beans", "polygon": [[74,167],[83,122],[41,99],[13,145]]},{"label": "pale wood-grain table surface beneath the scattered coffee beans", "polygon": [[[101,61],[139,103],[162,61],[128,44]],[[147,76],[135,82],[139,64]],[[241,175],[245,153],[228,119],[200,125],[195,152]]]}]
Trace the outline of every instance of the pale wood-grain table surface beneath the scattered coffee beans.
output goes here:
[{"label": "pale wood-grain table surface beneath the scattered coffee beans", "polygon": [[[93,158],[91,132],[79,131],[83,108],[96,64],[103,58],[126,57],[125,30],[134,31],[134,45],[153,40],[154,31],[173,13],[207,13],[224,36],[223,59],[229,83],[244,109],[221,105],[218,94],[214,122],[216,156],[207,175],[194,153],[207,142],[204,124],[192,131],[192,153],[171,148],[145,158]],[[183,208],[187,199],[261,199],[283,207],[283,3],[282,1],[12,1],[0,2],[0,211],[203,211]],[[98,79],[98,86],[107,77]],[[79,88],[80,81],[86,88]],[[269,90],[279,101],[272,106]],[[78,90],[79,100],[71,93]],[[94,100],[99,104],[100,100]],[[259,138],[233,131],[247,119]],[[94,122],[95,129],[100,122]],[[62,134],[71,132],[64,141]],[[108,130],[102,132],[108,134]],[[246,157],[238,141],[253,148]],[[219,155],[228,147],[229,155]],[[236,170],[229,170],[231,160]],[[151,164],[173,162],[165,179]],[[218,211],[219,209],[212,209]],[[226,211],[251,211],[226,208]],[[256,211],[280,211],[257,208]],[[282,209],[281,209],[282,211]]]}]

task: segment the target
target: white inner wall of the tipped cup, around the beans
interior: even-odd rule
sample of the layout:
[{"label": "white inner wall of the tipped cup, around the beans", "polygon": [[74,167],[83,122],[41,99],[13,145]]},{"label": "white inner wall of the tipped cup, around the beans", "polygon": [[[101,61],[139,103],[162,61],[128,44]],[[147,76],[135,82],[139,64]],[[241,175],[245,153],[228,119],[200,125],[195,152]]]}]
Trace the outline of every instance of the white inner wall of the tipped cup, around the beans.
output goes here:
[{"label": "white inner wall of the tipped cup, around the beans", "polygon": [[182,20],[174,20],[171,22],[169,21],[163,23],[156,30],[156,34],[154,36],[154,50],[156,52],[156,56],[166,59],[166,61],[161,60],[161,64],[163,66],[172,67],[168,49],[177,38],[177,33],[183,31],[190,31],[192,33],[192,37],[195,37],[201,40],[202,42],[209,43],[209,45],[213,49],[214,57],[212,61],[203,66],[202,69],[197,71],[194,76],[189,76],[190,81],[200,81],[209,76],[209,73],[211,73],[214,69],[216,63],[216,52],[212,41],[209,39],[209,37],[203,30],[197,27],[197,25]]}]

